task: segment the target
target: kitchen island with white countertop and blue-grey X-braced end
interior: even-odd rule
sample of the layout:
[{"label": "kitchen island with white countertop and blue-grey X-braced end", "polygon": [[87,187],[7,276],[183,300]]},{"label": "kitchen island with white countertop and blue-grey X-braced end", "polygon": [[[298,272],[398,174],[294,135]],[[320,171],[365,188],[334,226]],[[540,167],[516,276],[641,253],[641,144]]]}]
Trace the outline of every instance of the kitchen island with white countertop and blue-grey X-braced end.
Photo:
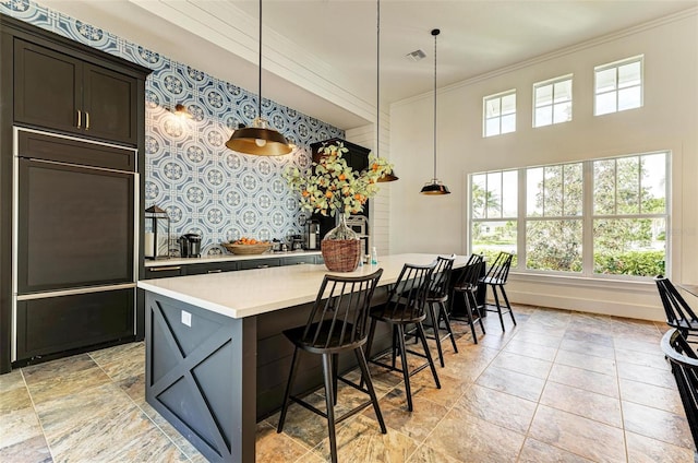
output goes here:
[{"label": "kitchen island with white countertop and blue-grey X-braced end", "polygon": [[[382,268],[378,304],[405,263],[435,258],[387,256],[342,275]],[[208,460],[254,462],[256,422],[280,406],[290,367],[292,346],[281,331],[305,323],[327,273],[305,264],[139,282],[146,292],[147,402]],[[389,333],[383,337],[389,343]],[[320,383],[318,365],[299,372],[299,390]]]}]

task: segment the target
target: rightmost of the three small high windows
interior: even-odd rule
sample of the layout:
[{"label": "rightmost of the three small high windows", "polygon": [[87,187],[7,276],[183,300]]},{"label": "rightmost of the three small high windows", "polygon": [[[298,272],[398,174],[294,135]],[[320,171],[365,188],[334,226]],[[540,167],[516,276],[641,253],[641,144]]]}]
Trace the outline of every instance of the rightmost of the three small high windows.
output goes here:
[{"label": "rightmost of the three small high windows", "polygon": [[594,116],[642,106],[642,56],[594,68]]}]

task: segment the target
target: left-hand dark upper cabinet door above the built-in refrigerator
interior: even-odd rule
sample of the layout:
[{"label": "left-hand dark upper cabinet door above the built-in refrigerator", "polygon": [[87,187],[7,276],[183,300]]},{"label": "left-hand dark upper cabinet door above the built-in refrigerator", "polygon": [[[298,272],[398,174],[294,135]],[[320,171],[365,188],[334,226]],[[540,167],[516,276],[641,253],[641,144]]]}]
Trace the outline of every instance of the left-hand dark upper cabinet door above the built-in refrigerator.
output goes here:
[{"label": "left-hand dark upper cabinet door above the built-in refrigerator", "polygon": [[81,81],[80,60],[16,39],[14,120],[80,133]]}]

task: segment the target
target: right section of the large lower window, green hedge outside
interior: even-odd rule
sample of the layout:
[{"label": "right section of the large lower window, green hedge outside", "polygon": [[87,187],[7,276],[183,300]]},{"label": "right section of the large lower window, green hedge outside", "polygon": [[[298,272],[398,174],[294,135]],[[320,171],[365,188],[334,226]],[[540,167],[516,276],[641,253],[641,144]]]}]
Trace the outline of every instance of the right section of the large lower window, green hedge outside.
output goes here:
[{"label": "right section of the large lower window, green hedge outside", "polygon": [[664,273],[665,173],[664,153],[593,163],[594,273]]}]

